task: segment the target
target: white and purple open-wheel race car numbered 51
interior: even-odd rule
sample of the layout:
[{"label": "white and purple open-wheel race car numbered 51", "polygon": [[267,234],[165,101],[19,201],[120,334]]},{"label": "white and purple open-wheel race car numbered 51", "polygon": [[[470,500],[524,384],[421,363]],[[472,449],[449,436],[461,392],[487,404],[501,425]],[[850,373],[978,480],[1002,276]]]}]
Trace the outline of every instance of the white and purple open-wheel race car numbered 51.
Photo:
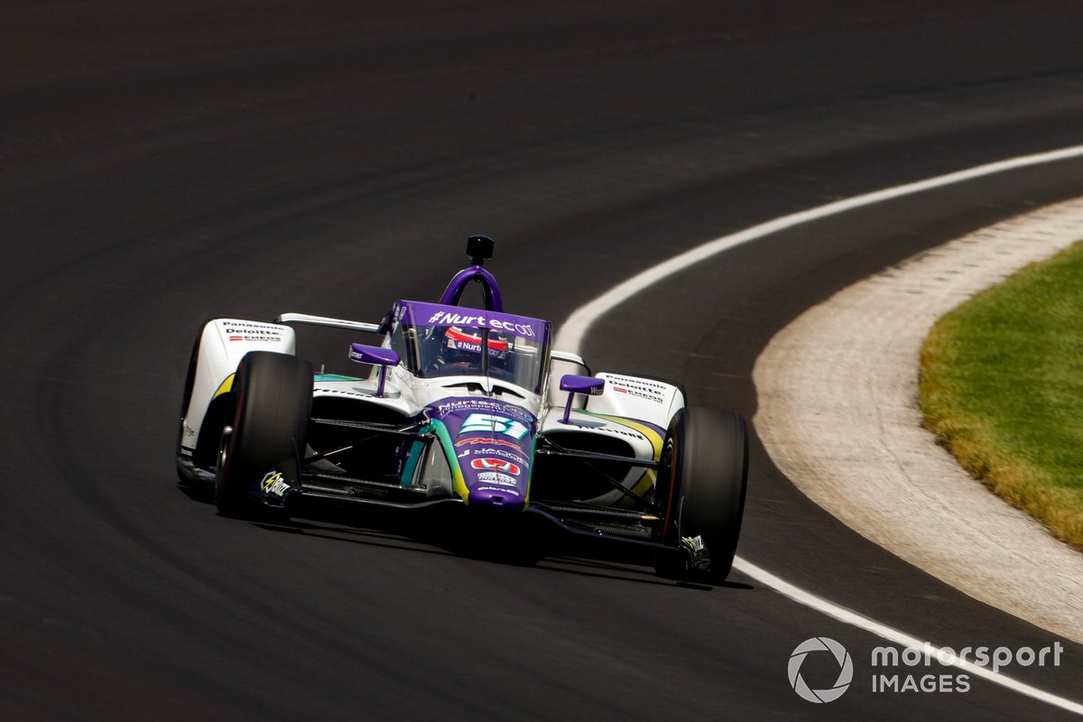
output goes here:
[{"label": "white and purple open-wheel race car numbered 51", "polygon": [[[552,350],[550,321],[504,311],[484,267],[493,249],[471,236],[471,263],[438,303],[397,300],[378,324],[207,321],[181,408],[182,482],[212,489],[226,516],[318,502],[439,512],[461,528],[642,556],[665,576],[726,579],[747,485],[744,420]],[[482,307],[461,305],[474,283]],[[297,354],[300,326],[374,343],[342,349],[353,373],[314,372]]]}]

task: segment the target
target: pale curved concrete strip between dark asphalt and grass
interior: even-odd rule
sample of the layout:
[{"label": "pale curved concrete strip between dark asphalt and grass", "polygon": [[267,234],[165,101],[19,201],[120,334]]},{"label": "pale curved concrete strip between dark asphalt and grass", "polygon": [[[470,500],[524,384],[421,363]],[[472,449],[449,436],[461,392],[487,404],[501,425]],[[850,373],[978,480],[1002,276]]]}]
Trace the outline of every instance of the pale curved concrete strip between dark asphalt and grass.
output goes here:
[{"label": "pale curved concrete strip between dark asphalt and grass", "polygon": [[1083,643],[1083,553],[963,471],[917,408],[932,324],[1081,238],[1077,199],[921,253],[809,309],[753,379],[759,437],[815,503],[970,596]]}]

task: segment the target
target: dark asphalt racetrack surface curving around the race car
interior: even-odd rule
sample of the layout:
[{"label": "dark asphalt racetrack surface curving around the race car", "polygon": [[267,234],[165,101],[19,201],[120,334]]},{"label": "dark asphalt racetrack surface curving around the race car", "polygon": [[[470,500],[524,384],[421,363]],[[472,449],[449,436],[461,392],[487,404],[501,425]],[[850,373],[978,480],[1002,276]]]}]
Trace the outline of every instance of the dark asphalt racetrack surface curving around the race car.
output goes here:
[{"label": "dark asphalt racetrack surface curving around the race car", "polygon": [[[740,574],[676,586],[220,518],[171,452],[207,317],[375,320],[436,297],[485,232],[508,307],[562,319],[727,233],[1083,143],[1081,26],[1078,3],[969,0],[4,3],[4,718],[1066,717],[978,680],[873,693],[876,638]],[[755,357],[803,309],[1081,194],[1066,161],[794,228],[632,299],[585,352],[751,418]],[[754,447],[743,557],[935,644],[1055,641],[848,531]],[[786,680],[820,635],[854,660],[827,705]],[[1065,646],[1004,671],[1079,699]]]}]

